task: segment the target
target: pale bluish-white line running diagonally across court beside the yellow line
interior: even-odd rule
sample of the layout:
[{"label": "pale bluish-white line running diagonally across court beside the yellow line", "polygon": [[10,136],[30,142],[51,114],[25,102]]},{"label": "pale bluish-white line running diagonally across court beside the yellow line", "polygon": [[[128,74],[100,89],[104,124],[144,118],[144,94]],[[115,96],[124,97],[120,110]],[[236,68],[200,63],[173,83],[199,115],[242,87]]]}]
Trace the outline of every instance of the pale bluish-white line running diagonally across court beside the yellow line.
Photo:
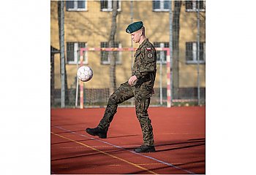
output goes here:
[{"label": "pale bluish-white line running diagonally across court beside the yellow line", "polygon": [[123,150],[126,150],[127,152],[132,152],[132,153],[135,154],[135,155],[140,155],[140,156],[143,156],[144,158],[149,158],[149,159],[151,159],[151,160],[155,160],[155,161],[157,161],[157,162],[159,162],[159,163],[165,164],[165,165],[167,165],[167,166],[176,168],[176,169],[181,170],[181,171],[185,171],[185,172],[187,172],[187,173],[189,173],[189,174],[195,174],[195,173],[192,172],[192,171],[186,170],[186,169],[184,169],[184,168],[180,168],[180,167],[178,167],[178,166],[174,166],[174,165],[171,164],[171,163],[166,163],[166,162],[164,162],[164,161],[162,161],[162,160],[158,160],[158,159],[156,159],[156,158],[152,158],[152,157],[150,157],[150,156],[148,156],[148,155],[142,155],[142,154],[140,154],[140,153],[138,153],[138,152],[134,152],[134,151],[127,150],[127,149],[125,149],[124,147],[120,147],[120,146],[117,146],[117,145],[115,145],[115,144],[110,144],[110,143],[108,143],[107,141],[102,141],[102,140],[94,139],[94,138],[92,138],[92,137],[89,137],[89,136],[86,136],[86,135],[83,135],[83,134],[80,134],[80,133],[75,133],[75,132],[70,131],[70,130],[67,130],[67,129],[65,129],[65,128],[61,128],[60,126],[54,126],[54,128],[59,128],[59,129],[61,129],[61,130],[63,130],[63,131],[69,131],[70,133],[74,133],[74,134],[76,134],[76,135],[78,135],[78,136],[83,136],[83,137],[86,137],[86,138],[88,138],[88,139],[92,139],[92,140],[94,140],[94,141],[99,141],[99,142],[102,142],[102,143],[104,143],[104,144],[109,144],[109,145],[111,145],[112,147],[116,147],[116,148],[118,148],[118,149],[123,149]]}]

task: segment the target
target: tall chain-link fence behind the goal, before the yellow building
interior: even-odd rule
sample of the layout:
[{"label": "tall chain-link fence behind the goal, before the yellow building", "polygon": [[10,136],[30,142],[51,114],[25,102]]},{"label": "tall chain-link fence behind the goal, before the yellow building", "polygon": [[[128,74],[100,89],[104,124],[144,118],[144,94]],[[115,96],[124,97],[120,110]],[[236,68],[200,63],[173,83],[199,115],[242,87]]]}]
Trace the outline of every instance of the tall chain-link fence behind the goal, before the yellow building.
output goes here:
[{"label": "tall chain-link fence behind the goal, before the yellow building", "polygon": [[[62,8],[61,3],[64,3]],[[112,47],[139,47],[132,43],[125,28],[129,23],[142,20],[149,41],[159,49],[170,48],[171,104],[204,105],[206,1],[118,1],[117,5],[116,34]],[[76,78],[80,66],[79,50],[110,47],[113,1],[51,1],[50,8],[51,106],[60,107],[64,101],[65,107],[76,107],[80,101],[80,87]],[[61,25],[64,39],[61,39]],[[64,43],[64,50],[61,50],[61,42]],[[64,62],[61,61],[61,52]],[[114,53],[117,88],[131,76],[134,53]],[[61,74],[61,65],[64,65],[64,74]],[[105,106],[111,88],[108,52],[84,52],[83,65],[90,66],[94,71],[94,77],[84,83],[84,106]],[[151,106],[167,105],[167,80],[167,52],[158,50],[157,78]],[[134,98],[120,105],[132,106]]]}]

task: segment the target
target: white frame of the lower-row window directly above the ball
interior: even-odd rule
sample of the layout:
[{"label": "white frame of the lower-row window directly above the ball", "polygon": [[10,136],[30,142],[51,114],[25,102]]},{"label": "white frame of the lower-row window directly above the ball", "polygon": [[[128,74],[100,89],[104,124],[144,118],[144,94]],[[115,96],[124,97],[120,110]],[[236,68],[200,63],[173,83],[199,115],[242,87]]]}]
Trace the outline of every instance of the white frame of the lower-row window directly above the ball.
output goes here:
[{"label": "white frame of the lower-row window directly above the ball", "polygon": [[[87,42],[67,42],[67,43],[74,43],[74,61],[68,61],[68,58],[66,56],[66,63],[67,64],[77,64],[77,63],[79,64],[80,63],[80,56],[79,56],[80,50],[79,50],[78,44],[85,43],[85,47],[87,47]],[[67,48],[67,43],[66,43],[66,48]],[[67,51],[66,51],[66,55],[67,55]],[[83,59],[84,59],[83,64],[88,64],[88,52],[87,51],[84,51]]]}]

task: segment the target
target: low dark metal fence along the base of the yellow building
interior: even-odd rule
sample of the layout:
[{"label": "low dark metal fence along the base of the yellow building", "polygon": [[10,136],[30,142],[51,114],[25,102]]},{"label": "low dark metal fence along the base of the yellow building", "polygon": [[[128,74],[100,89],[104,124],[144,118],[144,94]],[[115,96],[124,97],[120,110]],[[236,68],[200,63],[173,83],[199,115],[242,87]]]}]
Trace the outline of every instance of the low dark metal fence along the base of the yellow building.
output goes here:
[{"label": "low dark metal fence along the base of the yellow building", "polygon": [[[155,82],[159,83],[159,82]],[[79,88],[79,87],[78,87]],[[167,89],[162,88],[162,103],[160,100],[160,88],[154,88],[154,95],[151,97],[151,106],[167,106]],[[51,92],[53,100],[51,101],[51,107],[56,108],[61,106],[61,90],[54,89]],[[84,107],[103,107],[108,103],[110,96],[109,88],[105,89],[93,89],[84,88],[83,90],[83,104]],[[200,101],[201,105],[205,104],[206,100],[206,88],[200,88]],[[67,89],[67,98],[65,101],[66,107],[75,106],[76,88]],[[80,101],[80,92],[78,91],[78,101]],[[119,106],[133,106],[134,98],[125,101]],[[197,88],[178,88],[173,96],[173,106],[196,106],[197,105]]]}]

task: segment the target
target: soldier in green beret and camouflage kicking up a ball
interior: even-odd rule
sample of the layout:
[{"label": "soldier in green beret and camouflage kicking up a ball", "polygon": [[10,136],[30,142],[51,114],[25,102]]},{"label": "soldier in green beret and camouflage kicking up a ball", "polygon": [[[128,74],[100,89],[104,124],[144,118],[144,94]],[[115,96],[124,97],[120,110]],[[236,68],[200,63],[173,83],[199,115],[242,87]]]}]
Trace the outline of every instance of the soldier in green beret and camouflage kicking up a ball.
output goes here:
[{"label": "soldier in green beret and camouflage kicking up a ball", "polygon": [[135,52],[132,77],[124,82],[110,96],[105,114],[97,128],[86,128],[86,132],[99,138],[107,138],[108,128],[113,120],[118,104],[135,97],[136,116],[143,133],[143,145],[134,149],[135,152],[155,152],[154,136],[151,120],[148,117],[150,98],[154,93],[154,80],[157,72],[157,53],[145,35],[142,21],[130,24],[126,32],[131,34],[132,41],[140,46]]}]

